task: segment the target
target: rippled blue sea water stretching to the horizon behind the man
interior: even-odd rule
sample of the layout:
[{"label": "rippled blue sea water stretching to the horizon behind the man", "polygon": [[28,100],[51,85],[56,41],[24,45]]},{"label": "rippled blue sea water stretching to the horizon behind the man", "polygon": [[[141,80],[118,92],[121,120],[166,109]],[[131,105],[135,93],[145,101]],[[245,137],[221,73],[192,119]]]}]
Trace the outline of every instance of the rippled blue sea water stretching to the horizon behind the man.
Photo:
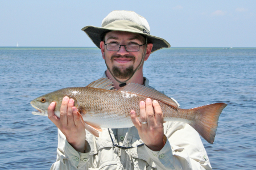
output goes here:
[{"label": "rippled blue sea water stretching to the horizon behind the man", "polygon": [[[57,129],[34,116],[30,101],[86,86],[106,70],[96,48],[0,48],[0,169],[49,169]],[[150,85],[181,108],[225,102],[213,145],[213,169],[256,169],[256,48],[171,48],[144,63]]]}]

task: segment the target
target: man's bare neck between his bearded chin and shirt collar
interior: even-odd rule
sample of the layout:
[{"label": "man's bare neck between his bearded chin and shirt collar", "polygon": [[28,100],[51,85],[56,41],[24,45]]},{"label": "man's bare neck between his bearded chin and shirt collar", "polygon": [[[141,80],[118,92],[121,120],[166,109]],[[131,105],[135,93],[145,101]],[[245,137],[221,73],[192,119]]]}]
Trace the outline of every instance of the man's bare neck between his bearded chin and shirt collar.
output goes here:
[{"label": "man's bare neck between his bearded chin and shirt collar", "polygon": [[[141,69],[142,69],[142,68],[141,68]],[[136,73],[133,75],[133,77],[130,78],[130,79],[126,82],[126,84],[129,84],[129,83],[136,83],[136,84],[141,84],[141,85],[143,85],[143,83],[144,83],[144,78],[143,78],[143,73],[142,73],[142,70],[141,70],[141,69],[137,70]],[[120,83],[117,82],[117,80],[115,80],[115,79],[113,78],[112,74],[110,74],[110,72],[109,72],[108,69],[106,70],[106,76],[107,76],[110,80],[112,80],[113,86],[114,86],[115,89],[118,90],[119,88],[121,88],[121,87],[119,87]],[[118,79],[118,80],[119,80],[120,82],[125,82],[126,79]]]}]

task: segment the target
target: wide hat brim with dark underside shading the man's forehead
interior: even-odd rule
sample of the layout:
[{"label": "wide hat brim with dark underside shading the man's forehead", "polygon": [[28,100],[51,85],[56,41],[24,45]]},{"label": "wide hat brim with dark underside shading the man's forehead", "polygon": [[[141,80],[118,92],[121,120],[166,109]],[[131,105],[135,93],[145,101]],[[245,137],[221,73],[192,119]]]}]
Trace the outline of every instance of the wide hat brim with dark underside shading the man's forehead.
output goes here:
[{"label": "wide hat brim with dark underside shading the man's forehead", "polygon": [[151,50],[151,53],[154,53],[155,51],[162,49],[162,48],[169,48],[171,45],[164,39],[152,35],[148,35],[147,33],[137,32],[133,29],[109,29],[109,28],[102,28],[102,27],[94,27],[94,26],[86,26],[82,28],[82,31],[84,31],[89,37],[90,40],[93,41],[93,43],[100,48],[100,42],[101,42],[101,35],[105,32],[109,31],[126,31],[126,32],[134,32],[139,33],[140,35],[147,37],[148,42],[153,44],[153,48]]}]

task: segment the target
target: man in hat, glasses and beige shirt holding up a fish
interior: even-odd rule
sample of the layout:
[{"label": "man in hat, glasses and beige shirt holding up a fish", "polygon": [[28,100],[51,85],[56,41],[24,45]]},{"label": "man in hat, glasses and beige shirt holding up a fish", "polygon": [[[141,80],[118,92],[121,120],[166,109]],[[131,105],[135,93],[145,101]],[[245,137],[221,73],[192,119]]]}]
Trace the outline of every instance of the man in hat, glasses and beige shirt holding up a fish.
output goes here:
[{"label": "man in hat, glasses and beige shirt holding up a fish", "polygon": [[[151,36],[147,20],[133,11],[112,11],[101,28],[82,30],[101,49],[107,66],[103,76],[116,89],[128,83],[149,87],[143,62],[152,52],[170,47],[166,40]],[[85,132],[73,99],[64,97],[60,118],[53,113],[53,102],[48,117],[59,128],[59,143],[51,169],[212,169],[199,134],[191,126],[164,123],[156,100],[146,99],[139,105],[140,120],[130,112],[132,128],[102,129],[97,138]]]}]

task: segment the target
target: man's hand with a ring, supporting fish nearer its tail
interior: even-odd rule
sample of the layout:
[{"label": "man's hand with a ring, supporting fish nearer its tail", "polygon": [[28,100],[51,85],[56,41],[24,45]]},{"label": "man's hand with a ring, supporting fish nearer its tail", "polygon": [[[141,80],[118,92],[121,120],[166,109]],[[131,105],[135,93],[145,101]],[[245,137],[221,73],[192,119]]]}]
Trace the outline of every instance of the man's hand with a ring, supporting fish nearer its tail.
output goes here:
[{"label": "man's hand with a ring, supporting fish nearer its tail", "polygon": [[[154,109],[153,109],[154,107]],[[164,147],[164,131],[163,131],[163,112],[160,108],[158,101],[146,99],[146,104],[141,101],[139,105],[141,122],[147,122],[147,124],[141,124],[136,117],[135,111],[131,111],[131,121],[138,129],[139,137],[144,144],[152,151],[160,151]],[[155,114],[154,114],[155,110]]]}]

